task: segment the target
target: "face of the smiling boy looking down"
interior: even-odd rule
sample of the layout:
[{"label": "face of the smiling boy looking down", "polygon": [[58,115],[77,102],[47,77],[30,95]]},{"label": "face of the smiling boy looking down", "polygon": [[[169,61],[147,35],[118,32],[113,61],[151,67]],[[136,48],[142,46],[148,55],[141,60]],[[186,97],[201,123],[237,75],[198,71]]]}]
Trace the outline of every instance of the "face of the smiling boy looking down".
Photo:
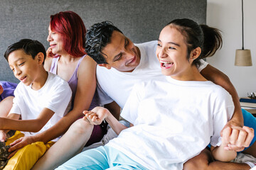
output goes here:
[{"label": "face of the smiling boy looking down", "polygon": [[27,55],[23,50],[15,50],[10,53],[8,62],[14,76],[26,86],[38,81],[40,63],[37,56],[33,59],[31,55]]}]

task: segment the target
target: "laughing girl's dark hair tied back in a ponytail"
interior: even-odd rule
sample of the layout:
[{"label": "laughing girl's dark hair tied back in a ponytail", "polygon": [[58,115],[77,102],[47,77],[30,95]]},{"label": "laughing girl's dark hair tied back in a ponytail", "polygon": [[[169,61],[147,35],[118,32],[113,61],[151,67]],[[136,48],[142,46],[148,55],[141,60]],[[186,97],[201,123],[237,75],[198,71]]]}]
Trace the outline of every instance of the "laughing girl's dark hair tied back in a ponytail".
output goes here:
[{"label": "laughing girl's dark hair tied back in a ponytail", "polygon": [[200,59],[213,56],[223,45],[220,30],[207,25],[198,25],[191,19],[176,19],[166,26],[176,28],[186,38],[187,59],[189,59],[192,50],[196,49],[196,47],[201,47],[201,55],[196,60],[193,60],[193,64],[197,66],[201,64]]}]

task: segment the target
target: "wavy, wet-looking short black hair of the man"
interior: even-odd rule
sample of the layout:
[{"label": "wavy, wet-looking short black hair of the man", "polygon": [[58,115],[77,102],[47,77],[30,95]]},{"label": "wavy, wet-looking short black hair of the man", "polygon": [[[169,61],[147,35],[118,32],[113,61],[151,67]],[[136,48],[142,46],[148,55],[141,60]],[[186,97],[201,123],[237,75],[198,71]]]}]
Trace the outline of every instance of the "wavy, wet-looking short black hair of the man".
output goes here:
[{"label": "wavy, wet-looking short black hair of the man", "polygon": [[97,62],[97,64],[107,64],[102,49],[111,42],[114,30],[122,33],[122,31],[110,21],[95,23],[89,30],[87,30],[85,51],[93,60],[95,60],[95,62]]}]

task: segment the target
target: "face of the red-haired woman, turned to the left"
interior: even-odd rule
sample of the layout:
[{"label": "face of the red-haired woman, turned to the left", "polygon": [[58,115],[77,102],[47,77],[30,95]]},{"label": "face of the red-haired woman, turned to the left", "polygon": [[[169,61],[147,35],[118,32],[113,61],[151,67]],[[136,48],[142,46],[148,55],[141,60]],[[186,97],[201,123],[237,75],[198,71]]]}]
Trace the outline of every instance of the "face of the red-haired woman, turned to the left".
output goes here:
[{"label": "face of the red-haired woman, turned to the left", "polygon": [[[60,33],[56,33],[50,29],[50,26],[48,28],[48,37],[47,41],[50,42],[50,49],[51,52],[55,55],[62,55],[65,50],[63,47],[63,38],[60,35]],[[66,53],[66,52],[65,52]]]}]

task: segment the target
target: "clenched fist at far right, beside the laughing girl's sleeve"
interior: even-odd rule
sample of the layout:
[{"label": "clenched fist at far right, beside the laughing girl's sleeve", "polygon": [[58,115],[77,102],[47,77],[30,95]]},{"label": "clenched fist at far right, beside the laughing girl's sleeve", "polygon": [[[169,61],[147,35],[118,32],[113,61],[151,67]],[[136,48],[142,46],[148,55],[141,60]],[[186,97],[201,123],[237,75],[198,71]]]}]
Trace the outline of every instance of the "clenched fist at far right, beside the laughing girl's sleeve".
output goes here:
[{"label": "clenched fist at far right, beside the laughing girl's sleeve", "polygon": [[254,137],[254,130],[247,126],[242,128],[238,126],[226,127],[223,129],[221,137],[225,149],[240,152],[245,147],[249,147]]}]

